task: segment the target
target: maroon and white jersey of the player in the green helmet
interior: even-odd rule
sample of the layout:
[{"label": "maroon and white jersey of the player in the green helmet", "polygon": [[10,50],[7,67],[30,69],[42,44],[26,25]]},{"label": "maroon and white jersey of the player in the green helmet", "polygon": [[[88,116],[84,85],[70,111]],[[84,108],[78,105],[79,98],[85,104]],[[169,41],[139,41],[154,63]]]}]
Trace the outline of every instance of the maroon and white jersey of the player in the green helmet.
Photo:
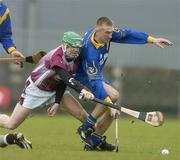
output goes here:
[{"label": "maroon and white jersey of the player in the green helmet", "polygon": [[63,45],[48,52],[37,64],[31,73],[31,79],[36,86],[45,91],[56,90],[60,77],[52,70],[54,66],[60,67],[73,74],[78,69],[78,60],[68,62],[65,58],[65,47]]}]

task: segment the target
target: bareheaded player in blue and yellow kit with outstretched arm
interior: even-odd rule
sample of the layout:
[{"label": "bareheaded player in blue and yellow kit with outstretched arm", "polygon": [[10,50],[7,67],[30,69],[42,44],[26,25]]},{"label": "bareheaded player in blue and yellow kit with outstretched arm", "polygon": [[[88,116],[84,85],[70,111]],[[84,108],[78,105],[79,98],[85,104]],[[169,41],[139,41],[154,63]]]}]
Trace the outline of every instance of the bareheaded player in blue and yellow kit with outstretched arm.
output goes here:
[{"label": "bareheaded player in blue and yellow kit with outstretched arm", "polygon": [[[160,48],[172,45],[172,42],[164,38],[155,38],[144,32],[137,32],[130,29],[115,28],[108,17],[100,17],[95,28],[86,32],[83,37],[84,46],[80,53],[82,60],[81,67],[76,74],[76,79],[89,88],[95,97],[106,102],[116,103],[119,92],[114,89],[103,77],[102,70],[107,61],[110,44],[153,44]],[[87,120],[78,128],[78,133],[85,141],[85,150],[114,150],[115,146],[105,143],[101,135],[108,129],[119,111],[96,105]],[[102,116],[99,123],[97,119]],[[94,129],[96,124],[96,130]]]}]

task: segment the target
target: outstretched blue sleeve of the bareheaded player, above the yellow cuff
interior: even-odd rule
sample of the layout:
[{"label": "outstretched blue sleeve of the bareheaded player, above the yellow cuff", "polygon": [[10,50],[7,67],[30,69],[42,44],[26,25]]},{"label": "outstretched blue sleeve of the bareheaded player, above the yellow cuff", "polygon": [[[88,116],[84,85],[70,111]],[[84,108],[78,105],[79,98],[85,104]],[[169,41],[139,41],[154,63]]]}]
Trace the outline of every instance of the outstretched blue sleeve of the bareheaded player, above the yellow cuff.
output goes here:
[{"label": "outstretched blue sleeve of the bareheaded player, above the yellow cuff", "polygon": [[130,29],[115,29],[112,34],[112,42],[127,44],[145,44],[149,35],[145,32],[138,32]]}]

